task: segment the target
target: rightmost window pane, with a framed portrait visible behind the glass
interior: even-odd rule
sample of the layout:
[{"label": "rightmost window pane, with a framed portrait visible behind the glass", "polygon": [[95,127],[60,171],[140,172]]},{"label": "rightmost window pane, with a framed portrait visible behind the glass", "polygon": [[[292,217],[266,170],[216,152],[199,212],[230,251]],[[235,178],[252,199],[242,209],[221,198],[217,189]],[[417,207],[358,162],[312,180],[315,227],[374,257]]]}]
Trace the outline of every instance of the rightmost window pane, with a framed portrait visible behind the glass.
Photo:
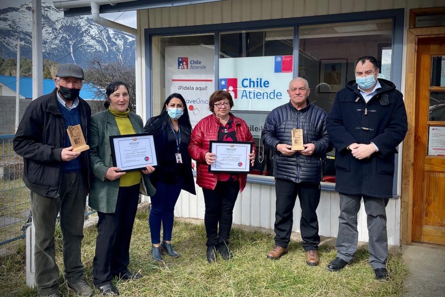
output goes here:
[{"label": "rightmost window pane, with a framed portrait visible behind the glass", "polygon": [[[377,58],[382,75],[389,80],[392,31],[391,19],[300,26],[298,75],[309,82],[311,102],[329,112],[336,91],[355,79],[354,61],[362,56]],[[326,75],[334,71],[334,64],[342,68],[335,84]]]}]

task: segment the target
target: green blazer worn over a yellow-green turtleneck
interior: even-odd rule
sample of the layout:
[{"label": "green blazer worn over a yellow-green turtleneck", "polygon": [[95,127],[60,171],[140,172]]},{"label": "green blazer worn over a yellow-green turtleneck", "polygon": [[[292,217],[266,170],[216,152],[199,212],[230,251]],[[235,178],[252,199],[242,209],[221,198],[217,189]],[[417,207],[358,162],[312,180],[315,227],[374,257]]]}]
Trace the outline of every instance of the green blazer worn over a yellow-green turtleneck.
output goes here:
[{"label": "green blazer worn over a yellow-green turtleneck", "polygon": [[[144,133],[142,119],[138,115],[130,112],[128,118],[137,134]],[[94,178],[88,205],[100,212],[113,213],[115,212],[117,192],[119,191],[119,178],[108,180],[105,179],[105,175],[108,168],[113,166],[110,136],[120,135],[119,129],[114,116],[108,109],[91,117],[90,128],[89,152]],[[143,173],[139,191],[147,196],[152,196],[156,192],[148,175]]]}]

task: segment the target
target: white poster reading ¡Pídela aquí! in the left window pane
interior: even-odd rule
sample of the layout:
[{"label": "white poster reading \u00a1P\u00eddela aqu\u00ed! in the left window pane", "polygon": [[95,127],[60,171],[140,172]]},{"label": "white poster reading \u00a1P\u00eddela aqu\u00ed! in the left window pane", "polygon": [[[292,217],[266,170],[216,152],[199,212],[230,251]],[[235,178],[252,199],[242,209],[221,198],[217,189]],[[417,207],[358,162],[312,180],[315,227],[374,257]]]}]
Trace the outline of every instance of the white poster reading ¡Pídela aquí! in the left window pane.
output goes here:
[{"label": "white poster reading \u00a1P\u00eddela aqu\u00ed! in the left window pane", "polygon": [[187,104],[192,127],[209,111],[215,91],[215,47],[213,45],[168,46],[165,48],[165,98],[181,94]]}]

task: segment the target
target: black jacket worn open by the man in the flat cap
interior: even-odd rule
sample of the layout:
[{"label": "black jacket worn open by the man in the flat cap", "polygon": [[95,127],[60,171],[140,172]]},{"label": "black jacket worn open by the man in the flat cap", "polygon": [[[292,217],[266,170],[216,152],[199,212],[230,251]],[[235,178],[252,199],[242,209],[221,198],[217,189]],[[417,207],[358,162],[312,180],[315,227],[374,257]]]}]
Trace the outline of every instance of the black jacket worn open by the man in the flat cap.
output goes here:
[{"label": "black jacket worn open by the man in the flat cap", "polygon": [[[57,89],[32,101],[25,110],[13,140],[14,151],[23,157],[23,181],[34,193],[58,197],[62,180],[62,149],[65,120],[57,103]],[[79,97],[79,116],[88,144],[91,108]],[[89,185],[90,156],[81,152],[83,178]]]}]

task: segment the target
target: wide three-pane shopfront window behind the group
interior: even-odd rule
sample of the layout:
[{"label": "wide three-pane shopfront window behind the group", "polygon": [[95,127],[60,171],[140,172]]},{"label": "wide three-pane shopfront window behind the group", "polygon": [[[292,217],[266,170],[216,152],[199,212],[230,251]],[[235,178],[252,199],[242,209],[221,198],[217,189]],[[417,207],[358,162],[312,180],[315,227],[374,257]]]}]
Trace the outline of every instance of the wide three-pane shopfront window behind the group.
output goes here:
[{"label": "wide three-pane shopfront window behind the group", "polygon": [[[177,92],[186,99],[194,127],[210,114],[208,100],[215,89],[227,90],[234,101],[232,113],[246,121],[258,148],[252,173],[272,176],[273,152],[261,143],[261,132],[269,112],[289,101],[287,89],[292,78],[306,78],[311,88],[310,101],[329,112],[336,92],[355,79],[353,65],[358,57],[376,57],[379,77],[388,80],[394,57],[392,18],[290,25],[256,30],[236,28],[217,32],[216,36],[202,33],[152,37],[153,114],[159,114],[165,98]],[[300,38],[298,65],[294,56],[295,28]],[[219,38],[218,73],[215,38]],[[443,70],[444,59],[436,60],[436,68]],[[435,77],[442,85],[444,76]],[[438,118],[443,117],[441,112],[432,111]],[[333,150],[323,157],[323,181],[335,182],[334,155]]]}]

